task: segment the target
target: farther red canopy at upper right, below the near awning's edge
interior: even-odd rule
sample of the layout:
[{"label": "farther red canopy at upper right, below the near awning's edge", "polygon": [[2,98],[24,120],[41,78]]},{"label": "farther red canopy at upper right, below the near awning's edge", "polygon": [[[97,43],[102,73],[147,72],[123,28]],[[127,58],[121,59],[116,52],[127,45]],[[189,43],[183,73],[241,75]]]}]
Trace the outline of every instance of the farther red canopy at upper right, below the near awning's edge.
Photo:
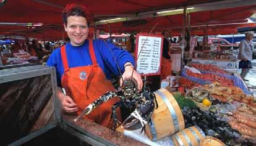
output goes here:
[{"label": "farther red canopy at upper right, below the near awning's edge", "polygon": [[[256,6],[236,7],[232,9],[210,10],[203,12],[194,12],[190,14],[190,25],[213,25],[223,23],[244,23],[247,22],[252,14],[254,14]],[[155,31],[163,31],[164,29],[176,29],[183,25],[183,14],[168,15],[164,17],[147,18],[147,23],[137,26],[125,26],[123,22],[110,23],[111,30],[114,32],[126,31],[150,31],[156,23],[158,25]],[[227,25],[228,26],[228,25]],[[246,25],[244,25],[246,26]],[[108,30],[108,25],[100,25],[100,27]],[[224,26],[222,26],[224,28]],[[233,27],[236,27],[233,25]],[[237,29],[237,28],[236,28]],[[221,33],[221,32],[220,32]]]}]

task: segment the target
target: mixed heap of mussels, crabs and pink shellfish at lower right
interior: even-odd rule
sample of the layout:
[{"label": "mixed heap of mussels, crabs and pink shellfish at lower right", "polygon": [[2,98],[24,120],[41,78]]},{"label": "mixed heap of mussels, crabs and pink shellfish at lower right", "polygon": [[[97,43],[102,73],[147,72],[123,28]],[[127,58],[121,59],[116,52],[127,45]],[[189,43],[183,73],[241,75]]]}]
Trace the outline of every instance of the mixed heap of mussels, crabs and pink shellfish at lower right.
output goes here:
[{"label": "mixed heap of mussels, crabs and pink shellfish at lower right", "polygon": [[[256,144],[256,108],[252,97],[239,87],[225,87],[213,83],[194,87],[186,96],[194,102],[210,104],[205,108],[182,108],[186,128],[198,126],[207,136],[213,136],[226,145]],[[219,98],[216,98],[218,96]],[[221,98],[220,98],[221,97]]]}]

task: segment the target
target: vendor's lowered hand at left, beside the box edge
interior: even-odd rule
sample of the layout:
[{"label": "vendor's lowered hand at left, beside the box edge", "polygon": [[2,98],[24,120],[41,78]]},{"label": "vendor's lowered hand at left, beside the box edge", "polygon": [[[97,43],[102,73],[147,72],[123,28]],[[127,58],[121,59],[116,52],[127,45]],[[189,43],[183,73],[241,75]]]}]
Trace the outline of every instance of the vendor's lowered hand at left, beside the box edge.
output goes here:
[{"label": "vendor's lowered hand at left, beside the box edge", "polygon": [[77,104],[74,102],[74,100],[71,97],[67,95],[63,95],[59,99],[61,99],[61,105],[64,112],[67,112],[67,113],[77,112],[78,110]]}]

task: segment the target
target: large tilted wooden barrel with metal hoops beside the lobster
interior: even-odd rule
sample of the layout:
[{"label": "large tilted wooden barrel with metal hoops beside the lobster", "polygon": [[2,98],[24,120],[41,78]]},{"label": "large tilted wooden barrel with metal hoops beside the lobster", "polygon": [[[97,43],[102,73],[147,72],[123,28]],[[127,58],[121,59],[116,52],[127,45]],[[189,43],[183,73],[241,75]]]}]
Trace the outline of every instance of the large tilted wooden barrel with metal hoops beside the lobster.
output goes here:
[{"label": "large tilted wooden barrel with metal hoops beside the lobster", "polygon": [[178,103],[166,89],[154,92],[158,108],[151,116],[151,123],[146,125],[146,135],[156,141],[163,137],[175,134],[185,128],[184,118]]}]

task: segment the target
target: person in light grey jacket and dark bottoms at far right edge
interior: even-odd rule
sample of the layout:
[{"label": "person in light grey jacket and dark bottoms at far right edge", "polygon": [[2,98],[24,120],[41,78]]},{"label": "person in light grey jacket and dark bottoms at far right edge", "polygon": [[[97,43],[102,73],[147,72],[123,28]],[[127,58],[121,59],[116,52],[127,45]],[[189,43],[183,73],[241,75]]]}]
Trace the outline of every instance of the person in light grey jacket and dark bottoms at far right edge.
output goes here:
[{"label": "person in light grey jacket and dark bottoms at far right edge", "polygon": [[254,32],[245,33],[245,39],[239,44],[239,54],[237,59],[241,60],[239,62],[239,68],[242,68],[241,77],[245,81],[245,76],[252,68],[252,51],[254,49],[254,44],[252,43],[252,38],[254,38]]}]

